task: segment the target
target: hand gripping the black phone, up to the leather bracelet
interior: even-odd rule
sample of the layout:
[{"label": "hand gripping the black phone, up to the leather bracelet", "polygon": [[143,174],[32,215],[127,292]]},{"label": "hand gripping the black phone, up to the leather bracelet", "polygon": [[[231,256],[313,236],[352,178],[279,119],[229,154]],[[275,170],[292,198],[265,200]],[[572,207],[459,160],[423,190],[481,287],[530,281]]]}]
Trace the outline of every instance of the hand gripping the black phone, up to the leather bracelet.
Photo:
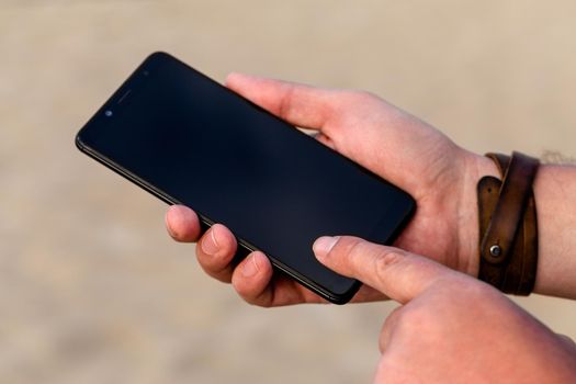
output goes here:
[{"label": "hand gripping the black phone, up to the leather bracelet", "polygon": [[[472,170],[484,172],[482,157],[463,150],[428,124],[364,92],[325,90],[241,74],[228,76],[226,86],[296,126],[316,129],[321,143],[417,196],[419,208],[395,244],[473,273],[477,266],[477,255],[472,253],[477,246],[475,213],[466,215],[460,205],[474,207]],[[381,150],[391,147],[389,143],[400,149]],[[470,195],[462,193],[466,173],[471,179]],[[215,235],[210,229],[200,237],[197,218],[190,208],[171,207],[167,226],[174,229],[178,241],[197,240],[196,255],[203,269],[215,279],[231,281],[237,293],[249,303],[280,306],[323,301],[292,280],[273,274],[268,259],[259,253],[233,266],[236,249],[233,234],[218,226]],[[215,256],[203,251],[202,244],[211,244]],[[252,256],[258,272],[246,278],[242,268],[255,262]],[[362,285],[353,301],[382,298],[382,293]]]}]

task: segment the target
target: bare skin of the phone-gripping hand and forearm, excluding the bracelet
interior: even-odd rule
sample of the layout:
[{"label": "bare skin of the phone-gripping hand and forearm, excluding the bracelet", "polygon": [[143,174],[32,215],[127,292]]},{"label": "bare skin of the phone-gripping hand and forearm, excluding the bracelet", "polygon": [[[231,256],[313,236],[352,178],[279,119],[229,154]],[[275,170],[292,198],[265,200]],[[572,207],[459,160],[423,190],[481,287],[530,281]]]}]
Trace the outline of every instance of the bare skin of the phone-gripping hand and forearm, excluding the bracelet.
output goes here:
[{"label": "bare skin of the phone-gripping hand and forearm, excluding the bracelet", "polygon": [[[492,160],[467,151],[445,135],[382,99],[361,91],[327,90],[233,74],[226,86],[300,127],[317,131],[321,143],[413,195],[417,211],[395,246],[451,269],[478,273],[476,184],[497,176]],[[534,182],[539,222],[539,267],[534,291],[576,298],[576,168],[543,166]],[[207,274],[261,306],[324,302],[304,286],[272,272],[262,252],[237,268],[234,235],[216,224],[200,237],[196,214],[172,206],[167,228],[178,241],[197,241],[196,256]],[[327,234],[338,235],[338,234]],[[346,235],[346,234],[341,234]],[[354,302],[384,295],[362,286]]]}]

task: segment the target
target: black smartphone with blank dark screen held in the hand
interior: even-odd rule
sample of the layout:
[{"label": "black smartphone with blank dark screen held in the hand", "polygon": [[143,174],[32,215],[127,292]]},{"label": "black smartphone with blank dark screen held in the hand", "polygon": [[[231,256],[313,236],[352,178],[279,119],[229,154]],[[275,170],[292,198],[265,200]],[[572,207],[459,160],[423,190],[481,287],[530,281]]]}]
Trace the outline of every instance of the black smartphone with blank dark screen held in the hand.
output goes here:
[{"label": "black smartphone with blank dark screen held in the hand", "polygon": [[337,304],[360,283],[320,264],[314,240],[389,244],[415,210],[406,192],[166,53],[146,58],[76,144],[165,202],[190,206],[204,229],[224,224],[244,253],[263,251]]}]

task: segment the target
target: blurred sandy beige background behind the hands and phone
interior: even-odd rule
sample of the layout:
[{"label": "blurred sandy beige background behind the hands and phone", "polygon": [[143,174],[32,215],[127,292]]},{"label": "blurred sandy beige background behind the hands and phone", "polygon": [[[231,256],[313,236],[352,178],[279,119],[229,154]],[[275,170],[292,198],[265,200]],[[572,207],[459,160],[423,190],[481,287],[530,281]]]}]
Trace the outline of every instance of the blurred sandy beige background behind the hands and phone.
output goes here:
[{"label": "blurred sandy beige background behind the hands and phone", "polygon": [[[393,304],[246,305],[169,240],[161,202],[76,150],[150,52],[371,90],[476,151],[576,155],[574,20],[568,0],[0,0],[0,382],[372,376]],[[576,337],[574,303],[520,303]]]}]

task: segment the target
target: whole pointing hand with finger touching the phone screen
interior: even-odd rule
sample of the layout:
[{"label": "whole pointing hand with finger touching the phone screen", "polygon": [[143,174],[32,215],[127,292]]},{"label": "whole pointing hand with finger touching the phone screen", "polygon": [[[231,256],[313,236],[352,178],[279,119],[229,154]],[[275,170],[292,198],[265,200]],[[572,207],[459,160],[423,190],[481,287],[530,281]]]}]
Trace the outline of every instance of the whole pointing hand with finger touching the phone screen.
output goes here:
[{"label": "whole pointing hand with finger touching the phone screen", "polygon": [[494,287],[420,256],[323,237],[328,268],[403,304],[380,334],[376,383],[575,383],[576,346]]}]

